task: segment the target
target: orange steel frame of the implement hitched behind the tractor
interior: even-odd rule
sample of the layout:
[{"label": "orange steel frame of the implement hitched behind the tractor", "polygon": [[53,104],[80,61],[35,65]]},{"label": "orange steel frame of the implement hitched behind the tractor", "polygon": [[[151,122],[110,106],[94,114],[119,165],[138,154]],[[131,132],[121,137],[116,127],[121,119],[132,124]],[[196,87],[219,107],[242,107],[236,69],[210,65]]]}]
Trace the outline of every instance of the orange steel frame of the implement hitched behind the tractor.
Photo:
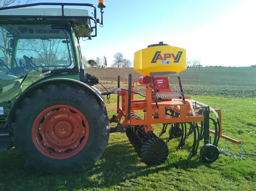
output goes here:
[{"label": "orange steel frame of the implement hitched behind the tractor", "polygon": [[[125,83],[123,80],[123,84]],[[121,96],[121,107],[117,107],[118,116],[115,118],[116,121],[121,121],[121,118],[124,117],[124,121],[122,123],[123,127],[126,126],[138,126],[144,125],[144,131],[153,131],[154,128],[151,126],[152,124],[162,124],[162,123],[184,123],[184,122],[197,122],[204,121],[204,116],[193,116],[190,108],[190,104],[186,101],[158,101],[158,108],[156,107],[156,103],[151,98],[151,87],[150,85],[139,85],[138,79],[136,79],[137,86],[146,86],[146,99],[144,100],[134,100],[134,83],[131,86],[131,113],[134,110],[144,110],[144,119],[136,120],[131,116],[131,120],[127,119],[128,113],[128,91],[120,90],[117,92],[117,96]],[[190,99],[190,96],[185,96],[185,99]],[[120,100],[120,99],[119,99]],[[174,112],[180,112],[180,117],[171,118],[166,117],[165,109],[172,108]],[[219,116],[220,122],[220,137],[231,141],[237,145],[243,143],[241,141],[237,141],[233,138],[225,136],[222,134],[222,123],[221,123],[221,109],[215,109]],[[195,112],[197,113],[197,112]],[[153,118],[155,116],[155,118]],[[202,128],[198,125],[199,128]],[[215,134],[215,131],[209,130],[210,133]]]}]

